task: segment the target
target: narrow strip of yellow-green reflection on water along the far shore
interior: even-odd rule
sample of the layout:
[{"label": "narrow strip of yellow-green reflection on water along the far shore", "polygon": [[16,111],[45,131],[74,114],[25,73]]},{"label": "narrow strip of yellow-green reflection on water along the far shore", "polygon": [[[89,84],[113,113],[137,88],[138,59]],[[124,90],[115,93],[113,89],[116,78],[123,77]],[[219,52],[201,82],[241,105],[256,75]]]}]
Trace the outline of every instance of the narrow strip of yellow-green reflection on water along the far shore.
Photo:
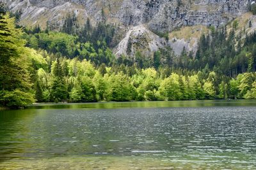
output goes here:
[{"label": "narrow strip of yellow-green reflection on water along the far shore", "polygon": [[195,107],[195,106],[213,106],[215,104],[218,104],[220,106],[232,106],[236,105],[236,103],[240,103],[239,105],[241,106],[256,106],[256,100],[255,99],[208,99],[208,100],[186,100],[186,101],[122,101],[122,102],[116,102],[116,101],[100,101],[100,102],[94,102],[94,103],[67,103],[67,102],[62,102],[62,103],[33,103],[29,104],[28,106],[24,108],[4,108],[0,107],[0,111],[6,111],[6,110],[26,110],[26,109],[31,109],[31,108],[37,108],[37,107],[61,107],[63,106],[64,108],[73,108],[77,105],[77,107],[92,107],[92,108],[97,108],[97,107],[111,107],[112,105],[115,107],[119,107],[122,105],[121,108],[132,108],[132,107]]}]

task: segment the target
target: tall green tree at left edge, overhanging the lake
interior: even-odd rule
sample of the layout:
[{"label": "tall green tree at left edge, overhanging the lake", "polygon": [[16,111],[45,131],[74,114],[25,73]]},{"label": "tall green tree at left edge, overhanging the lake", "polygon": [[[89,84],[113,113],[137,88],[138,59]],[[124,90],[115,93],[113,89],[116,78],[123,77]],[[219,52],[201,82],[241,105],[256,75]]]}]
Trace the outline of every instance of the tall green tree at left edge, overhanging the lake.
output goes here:
[{"label": "tall green tree at left edge, overhanging the lake", "polygon": [[0,13],[0,104],[24,107],[33,103],[25,41],[15,19]]}]

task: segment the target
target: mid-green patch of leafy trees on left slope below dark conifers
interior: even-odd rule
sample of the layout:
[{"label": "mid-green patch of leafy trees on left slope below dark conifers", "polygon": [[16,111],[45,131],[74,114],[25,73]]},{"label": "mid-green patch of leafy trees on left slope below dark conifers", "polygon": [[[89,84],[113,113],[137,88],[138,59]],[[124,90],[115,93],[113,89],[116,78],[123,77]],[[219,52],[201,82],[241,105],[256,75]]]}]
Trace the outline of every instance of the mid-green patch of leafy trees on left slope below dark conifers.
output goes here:
[{"label": "mid-green patch of leafy trees on left slope below dark conifers", "polygon": [[104,39],[97,41],[97,45],[95,45],[89,41],[83,41],[81,37],[77,38],[77,36],[63,32],[49,31],[35,34],[27,32],[28,34],[24,36],[28,41],[27,46],[36,50],[43,49],[48,53],[65,56],[69,59],[79,57],[81,60],[91,60],[97,65],[102,63],[109,65],[115,59]]}]

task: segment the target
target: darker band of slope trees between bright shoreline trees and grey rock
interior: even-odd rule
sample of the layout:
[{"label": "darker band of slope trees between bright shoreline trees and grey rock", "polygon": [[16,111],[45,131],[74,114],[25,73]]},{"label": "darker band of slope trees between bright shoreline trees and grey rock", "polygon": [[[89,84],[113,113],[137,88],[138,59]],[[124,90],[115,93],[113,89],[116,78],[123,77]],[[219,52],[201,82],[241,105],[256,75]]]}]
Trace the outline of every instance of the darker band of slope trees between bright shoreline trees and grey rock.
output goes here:
[{"label": "darker band of slope trees between bright shoreline trees and grey rock", "polygon": [[[69,18],[76,20],[72,15]],[[89,19],[83,28],[73,31],[74,33],[42,32],[40,28],[35,27],[32,31],[27,30],[28,34],[24,38],[28,40],[27,46],[36,50],[44,49],[50,55],[53,53],[68,59],[90,60],[96,66],[105,64],[105,66],[115,67],[114,69],[123,67],[122,64],[125,67],[134,65],[141,69],[155,67],[168,72],[168,76],[172,71],[193,72],[207,67],[207,71],[218,70],[216,71],[218,74],[234,77],[239,73],[256,70],[256,55],[253,53],[253,49],[256,49],[256,33],[246,36],[246,39],[241,41],[242,35],[236,37],[235,34],[238,22],[235,20],[233,23],[234,29],[229,33],[225,27],[220,29],[210,27],[209,34],[201,36],[198,51],[195,54],[186,52],[184,48],[180,56],[175,55],[171,48],[164,48],[159,49],[153,56],[136,51],[133,58],[129,56],[116,58],[109,48],[113,47],[115,27],[105,22],[99,22],[93,27]],[[128,54],[131,53],[131,46],[132,44],[128,43]],[[248,53],[252,53],[252,56],[247,57]],[[169,67],[169,70],[164,70],[163,67]]]}]

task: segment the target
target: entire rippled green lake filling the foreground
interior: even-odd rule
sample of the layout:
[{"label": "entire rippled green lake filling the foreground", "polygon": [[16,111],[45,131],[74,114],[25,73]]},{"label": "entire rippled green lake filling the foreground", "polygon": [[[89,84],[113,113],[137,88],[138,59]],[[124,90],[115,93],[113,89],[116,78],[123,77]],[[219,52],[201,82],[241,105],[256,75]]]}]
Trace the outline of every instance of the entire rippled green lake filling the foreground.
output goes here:
[{"label": "entire rippled green lake filling the foreground", "polygon": [[0,169],[256,169],[256,101],[0,111]]}]

